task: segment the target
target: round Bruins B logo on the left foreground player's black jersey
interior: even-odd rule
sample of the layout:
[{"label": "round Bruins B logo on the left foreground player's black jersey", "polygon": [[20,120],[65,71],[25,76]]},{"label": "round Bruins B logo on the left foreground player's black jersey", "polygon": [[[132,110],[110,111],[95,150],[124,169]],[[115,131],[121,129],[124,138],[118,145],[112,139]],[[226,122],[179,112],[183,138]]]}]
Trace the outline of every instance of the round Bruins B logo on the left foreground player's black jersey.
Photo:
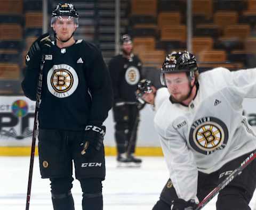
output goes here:
[{"label": "round Bruins B logo on the left foreground player's black jersey", "polygon": [[47,87],[58,98],[68,97],[78,85],[76,71],[67,64],[53,65],[47,74]]}]

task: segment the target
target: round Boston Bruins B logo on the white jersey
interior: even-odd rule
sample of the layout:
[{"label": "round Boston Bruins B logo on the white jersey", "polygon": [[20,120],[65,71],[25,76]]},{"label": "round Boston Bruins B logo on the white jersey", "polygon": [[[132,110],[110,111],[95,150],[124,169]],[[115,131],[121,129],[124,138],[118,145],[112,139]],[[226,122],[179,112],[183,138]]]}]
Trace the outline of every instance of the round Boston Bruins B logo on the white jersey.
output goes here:
[{"label": "round Boston Bruins B logo on the white jersey", "polygon": [[226,147],[227,141],[228,129],[220,119],[206,116],[191,125],[189,142],[199,153],[210,155],[215,150]]}]

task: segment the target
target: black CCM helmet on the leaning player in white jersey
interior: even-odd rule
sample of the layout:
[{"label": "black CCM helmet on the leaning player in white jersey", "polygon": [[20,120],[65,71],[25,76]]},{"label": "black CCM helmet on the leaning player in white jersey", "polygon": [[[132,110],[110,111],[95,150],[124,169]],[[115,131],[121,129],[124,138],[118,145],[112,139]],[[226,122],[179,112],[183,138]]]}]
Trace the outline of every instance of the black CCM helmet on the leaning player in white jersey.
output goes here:
[{"label": "black CCM helmet on the leaning player in white jersey", "polygon": [[161,69],[161,83],[166,86],[165,73],[186,72],[189,81],[195,77],[197,71],[196,57],[187,52],[172,53],[166,56]]}]

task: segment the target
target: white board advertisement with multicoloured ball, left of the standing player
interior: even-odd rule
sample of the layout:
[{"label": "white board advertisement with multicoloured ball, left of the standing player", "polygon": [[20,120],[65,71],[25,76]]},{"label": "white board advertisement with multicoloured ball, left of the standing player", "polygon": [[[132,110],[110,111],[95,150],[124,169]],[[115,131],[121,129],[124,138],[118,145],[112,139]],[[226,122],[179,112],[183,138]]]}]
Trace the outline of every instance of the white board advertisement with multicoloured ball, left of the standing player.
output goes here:
[{"label": "white board advertisement with multicoloured ball, left of the standing player", "polygon": [[25,96],[0,96],[0,146],[29,146],[36,102]]}]

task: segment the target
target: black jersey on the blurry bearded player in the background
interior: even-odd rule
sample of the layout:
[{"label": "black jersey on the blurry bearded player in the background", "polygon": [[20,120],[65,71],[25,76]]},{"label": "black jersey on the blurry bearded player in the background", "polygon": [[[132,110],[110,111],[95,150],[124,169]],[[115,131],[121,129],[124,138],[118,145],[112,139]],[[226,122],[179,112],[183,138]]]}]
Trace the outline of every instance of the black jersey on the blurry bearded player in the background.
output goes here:
[{"label": "black jersey on the blurry bearded player in the background", "polygon": [[109,62],[114,101],[135,102],[135,91],[141,77],[142,64],[138,56],[127,59],[122,54],[116,55]]}]

